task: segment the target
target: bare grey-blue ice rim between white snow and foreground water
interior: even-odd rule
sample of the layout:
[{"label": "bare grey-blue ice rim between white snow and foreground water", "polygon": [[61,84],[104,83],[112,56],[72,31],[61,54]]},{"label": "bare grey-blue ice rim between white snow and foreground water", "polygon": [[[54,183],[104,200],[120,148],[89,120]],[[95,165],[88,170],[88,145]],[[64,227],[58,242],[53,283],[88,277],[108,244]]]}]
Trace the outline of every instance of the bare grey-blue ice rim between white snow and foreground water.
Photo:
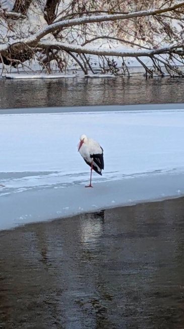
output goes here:
[{"label": "bare grey-blue ice rim between white snow and foreground water", "polygon": [[[163,200],[184,194],[183,172],[155,173],[121,180],[96,182],[93,189],[83,184],[61,188],[27,189],[0,197],[2,222],[0,228],[10,229],[27,223],[69,218],[142,203]],[[71,201],[72,200],[72,201]],[[8,209],[8,212],[7,212]]]}]

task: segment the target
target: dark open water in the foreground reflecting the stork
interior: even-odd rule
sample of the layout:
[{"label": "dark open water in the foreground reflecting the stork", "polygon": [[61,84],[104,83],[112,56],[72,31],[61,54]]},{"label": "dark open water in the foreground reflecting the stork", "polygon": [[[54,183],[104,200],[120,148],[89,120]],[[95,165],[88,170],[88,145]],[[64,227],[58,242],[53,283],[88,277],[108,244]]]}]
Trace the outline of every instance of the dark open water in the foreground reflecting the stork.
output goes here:
[{"label": "dark open water in the foreground reflecting the stork", "polygon": [[183,207],[180,198],[0,232],[0,327],[183,329]]}]

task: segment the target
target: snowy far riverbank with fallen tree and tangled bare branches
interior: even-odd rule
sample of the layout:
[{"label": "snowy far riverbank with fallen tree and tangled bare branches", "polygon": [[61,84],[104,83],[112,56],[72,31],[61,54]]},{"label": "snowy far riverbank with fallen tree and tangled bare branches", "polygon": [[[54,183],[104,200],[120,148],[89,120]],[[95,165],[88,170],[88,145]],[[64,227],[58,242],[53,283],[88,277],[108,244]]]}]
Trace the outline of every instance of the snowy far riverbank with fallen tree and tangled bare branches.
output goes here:
[{"label": "snowy far riverbank with fallen tree and tangled bare branches", "polygon": [[[52,70],[50,63],[60,71],[72,63],[84,72],[88,68],[93,72],[93,64],[97,64],[102,72],[116,74],[119,68],[112,59],[116,56],[121,70],[128,72],[124,58],[134,57],[152,74],[141,60],[149,57],[155,71],[162,74],[160,65],[177,72],[177,62],[181,65],[184,61],[184,1],[145,0],[143,4],[132,0],[130,4],[129,0],[110,0],[106,4],[100,0],[93,7],[90,2],[82,6],[83,0],[63,0],[60,4],[60,0],[46,0],[42,5],[40,0],[14,0],[13,11],[0,9],[0,63],[4,70],[6,65],[18,67],[27,60],[31,66],[34,59],[48,72]],[[106,48],[100,39],[105,40]],[[126,49],[125,44],[131,48]],[[97,55],[99,63],[92,63],[96,56],[86,54]]]}]

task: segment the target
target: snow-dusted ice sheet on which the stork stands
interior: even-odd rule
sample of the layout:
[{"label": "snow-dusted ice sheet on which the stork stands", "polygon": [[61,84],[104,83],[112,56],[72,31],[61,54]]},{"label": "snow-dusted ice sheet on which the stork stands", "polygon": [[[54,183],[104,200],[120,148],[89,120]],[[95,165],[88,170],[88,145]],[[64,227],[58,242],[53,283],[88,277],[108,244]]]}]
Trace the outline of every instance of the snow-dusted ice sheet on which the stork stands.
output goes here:
[{"label": "snow-dusted ice sheet on which the stork stands", "polygon": [[[0,229],[183,195],[184,106],[147,108],[0,114]],[[84,188],[90,168],[77,152],[81,134],[104,149],[93,189]]]}]

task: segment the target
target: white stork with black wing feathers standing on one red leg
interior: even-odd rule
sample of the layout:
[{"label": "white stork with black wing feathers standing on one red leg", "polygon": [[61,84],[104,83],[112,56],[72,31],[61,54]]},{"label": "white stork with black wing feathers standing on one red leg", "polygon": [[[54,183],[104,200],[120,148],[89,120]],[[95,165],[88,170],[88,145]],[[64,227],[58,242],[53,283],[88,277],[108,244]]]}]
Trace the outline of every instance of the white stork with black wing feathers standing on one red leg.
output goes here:
[{"label": "white stork with black wing feathers standing on one red leg", "polygon": [[90,184],[85,187],[93,187],[91,185],[92,170],[102,175],[101,171],[104,169],[103,149],[93,139],[88,138],[86,135],[82,135],[78,145],[78,152],[80,152],[87,165],[91,167]]}]

